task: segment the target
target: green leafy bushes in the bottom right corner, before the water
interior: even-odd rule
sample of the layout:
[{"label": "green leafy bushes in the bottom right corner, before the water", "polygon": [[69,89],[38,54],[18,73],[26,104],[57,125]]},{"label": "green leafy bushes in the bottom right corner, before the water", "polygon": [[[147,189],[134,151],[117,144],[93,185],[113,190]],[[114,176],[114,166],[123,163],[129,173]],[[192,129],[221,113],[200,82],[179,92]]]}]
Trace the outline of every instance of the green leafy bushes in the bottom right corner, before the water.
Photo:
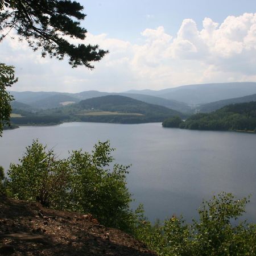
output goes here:
[{"label": "green leafy bushes in the bottom right corner, before the water", "polygon": [[256,225],[235,222],[247,199],[220,193],[199,208],[200,221],[175,216],[162,226],[142,221],[137,236],[158,255],[256,255]]}]

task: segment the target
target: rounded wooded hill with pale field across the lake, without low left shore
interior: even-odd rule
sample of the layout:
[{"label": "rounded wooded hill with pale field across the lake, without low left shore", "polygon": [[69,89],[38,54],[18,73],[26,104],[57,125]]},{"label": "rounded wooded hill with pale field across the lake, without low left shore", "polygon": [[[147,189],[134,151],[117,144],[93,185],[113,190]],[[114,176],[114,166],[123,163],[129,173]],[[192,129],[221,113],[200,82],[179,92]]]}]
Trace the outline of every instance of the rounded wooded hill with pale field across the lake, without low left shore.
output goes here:
[{"label": "rounded wooded hill with pale field across the lake, without low left shore", "polygon": [[166,117],[181,116],[180,112],[164,106],[148,104],[133,98],[108,95],[80,101],[70,108],[79,108],[82,121],[120,123],[162,122]]}]

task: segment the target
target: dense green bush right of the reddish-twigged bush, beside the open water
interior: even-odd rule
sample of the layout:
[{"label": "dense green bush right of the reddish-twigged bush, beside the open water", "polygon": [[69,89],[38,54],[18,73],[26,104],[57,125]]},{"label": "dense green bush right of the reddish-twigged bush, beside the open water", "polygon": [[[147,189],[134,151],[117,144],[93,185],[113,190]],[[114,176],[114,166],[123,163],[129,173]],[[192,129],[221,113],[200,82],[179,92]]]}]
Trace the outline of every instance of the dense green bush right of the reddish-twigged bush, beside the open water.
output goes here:
[{"label": "dense green bush right of the reddish-twigged bush, beside the open water", "polygon": [[70,202],[73,210],[90,212],[102,224],[127,229],[131,195],[126,187],[127,166],[114,164],[109,142],[99,142],[91,154],[73,151]]}]

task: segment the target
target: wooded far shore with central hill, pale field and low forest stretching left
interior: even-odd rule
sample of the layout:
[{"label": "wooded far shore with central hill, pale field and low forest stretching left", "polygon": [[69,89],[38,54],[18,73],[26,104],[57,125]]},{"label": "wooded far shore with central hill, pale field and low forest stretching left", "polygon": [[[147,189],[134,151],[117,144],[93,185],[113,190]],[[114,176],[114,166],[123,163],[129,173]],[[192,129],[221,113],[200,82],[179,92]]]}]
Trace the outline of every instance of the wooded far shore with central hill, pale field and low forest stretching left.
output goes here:
[{"label": "wooded far shore with central hill, pale field and low forest stretching left", "polygon": [[22,113],[11,121],[17,125],[47,125],[61,122],[146,123],[163,122],[168,117],[183,114],[164,106],[147,104],[133,98],[109,95],[82,100],[63,108]]}]

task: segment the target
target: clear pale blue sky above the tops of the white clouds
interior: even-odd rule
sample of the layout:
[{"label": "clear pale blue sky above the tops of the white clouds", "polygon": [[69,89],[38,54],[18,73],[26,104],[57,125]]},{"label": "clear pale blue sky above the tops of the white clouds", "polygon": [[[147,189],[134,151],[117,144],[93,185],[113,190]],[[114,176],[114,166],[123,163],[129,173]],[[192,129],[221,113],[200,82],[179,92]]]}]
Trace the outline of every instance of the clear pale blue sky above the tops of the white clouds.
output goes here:
[{"label": "clear pale blue sky above the tops of the white clouds", "polygon": [[83,24],[90,32],[133,42],[146,28],[164,26],[166,32],[174,35],[187,18],[202,28],[205,17],[220,23],[229,15],[256,12],[254,0],[82,0],[80,3],[88,15]]}]

